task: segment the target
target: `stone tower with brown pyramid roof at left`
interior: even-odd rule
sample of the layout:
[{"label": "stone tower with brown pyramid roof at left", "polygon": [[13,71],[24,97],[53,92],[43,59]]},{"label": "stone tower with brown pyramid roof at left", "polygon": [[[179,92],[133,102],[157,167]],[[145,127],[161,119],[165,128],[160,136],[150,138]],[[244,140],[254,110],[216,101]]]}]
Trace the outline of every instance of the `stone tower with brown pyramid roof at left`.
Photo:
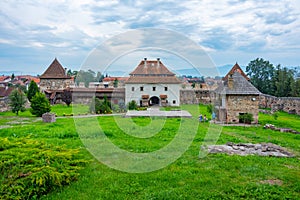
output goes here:
[{"label": "stone tower with brown pyramid roof at left", "polygon": [[46,71],[40,76],[40,90],[63,90],[70,85],[73,85],[74,81],[67,75],[66,70],[67,69],[63,68],[55,58]]}]

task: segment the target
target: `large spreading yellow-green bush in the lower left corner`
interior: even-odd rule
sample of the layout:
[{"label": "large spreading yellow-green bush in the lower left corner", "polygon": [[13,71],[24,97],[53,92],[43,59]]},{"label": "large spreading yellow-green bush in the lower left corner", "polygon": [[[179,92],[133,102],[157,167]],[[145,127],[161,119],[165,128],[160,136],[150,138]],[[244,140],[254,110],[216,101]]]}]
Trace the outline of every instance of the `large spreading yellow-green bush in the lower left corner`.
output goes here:
[{"label": "large spreading yellow-green bush in the lower left corner", "polygon": [[79,176],[79,150],[30,138],[0,138],[0,199],[37,199]]}]

